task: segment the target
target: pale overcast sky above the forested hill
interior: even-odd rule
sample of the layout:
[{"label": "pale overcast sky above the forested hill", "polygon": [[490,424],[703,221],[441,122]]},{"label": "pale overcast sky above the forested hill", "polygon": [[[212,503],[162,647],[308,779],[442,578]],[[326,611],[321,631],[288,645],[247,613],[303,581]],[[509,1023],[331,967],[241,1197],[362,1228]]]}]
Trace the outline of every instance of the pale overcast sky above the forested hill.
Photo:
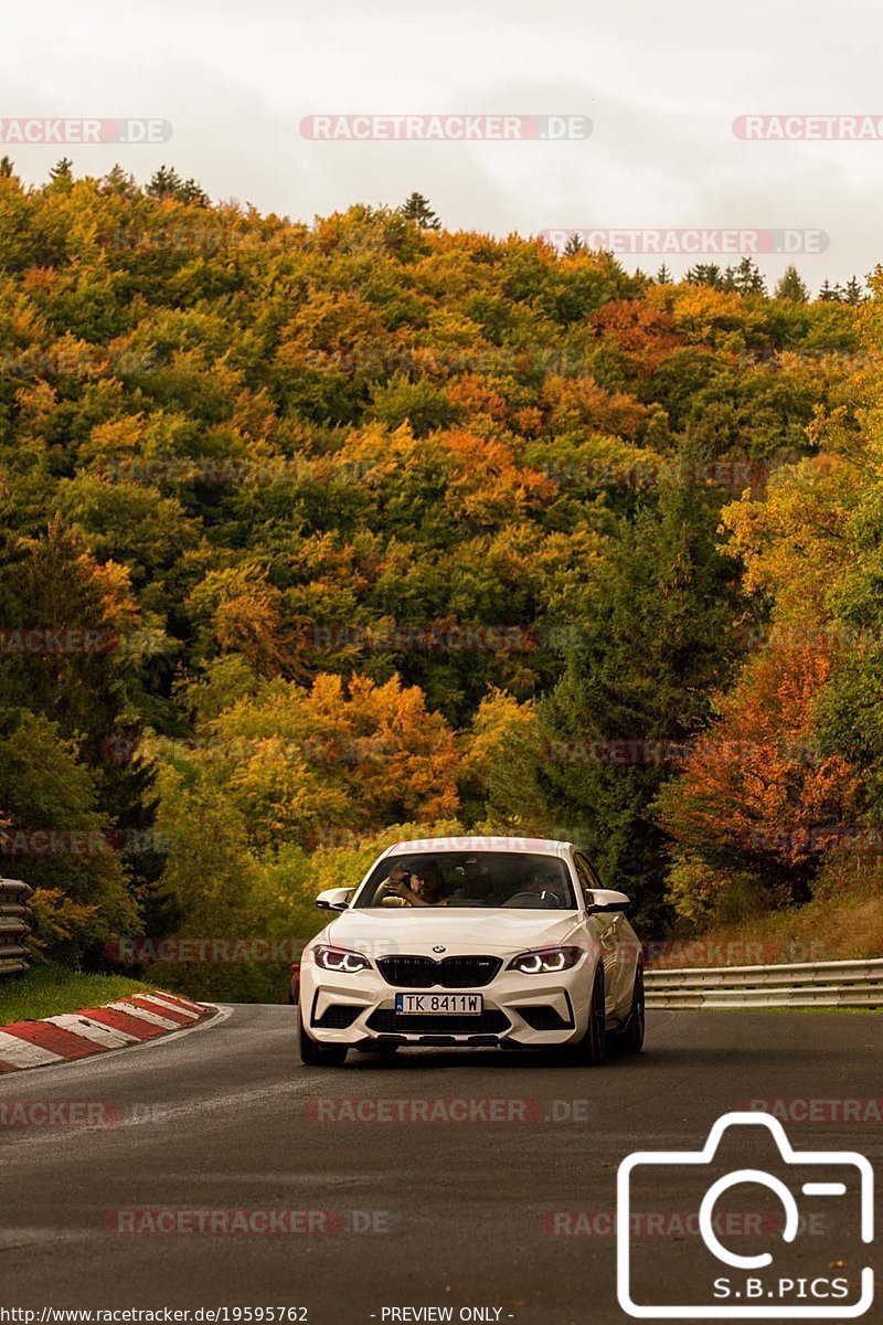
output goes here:
[{"label": "pale overcast sky above the forested hill", "polygon": [[[883,122],[879,0],[41,0],[7,5],[12,117],[154,117],[162,146],[66,148],[75,174],[162,163],[299,220],[425,193],[443,223],[822,231],[813,286],[883,260],[883,135],[747,142],[744,114]],[[581,114],[588,140],[312,142],[314,114]],[[56,147],[7,147],[42,182]],[[691,258],[669,258],[680,272]],[[725,260],[724,260],[725,261]],[[785,256],[763,257],[769,277]],[[650,270],[658,258],[626,260]]]}]

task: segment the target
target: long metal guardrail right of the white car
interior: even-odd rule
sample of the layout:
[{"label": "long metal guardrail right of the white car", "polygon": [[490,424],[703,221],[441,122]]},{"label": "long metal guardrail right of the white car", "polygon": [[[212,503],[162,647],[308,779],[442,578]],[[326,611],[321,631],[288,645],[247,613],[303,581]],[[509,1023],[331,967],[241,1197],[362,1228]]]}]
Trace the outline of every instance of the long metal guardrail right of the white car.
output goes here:
[{"label": "long metal guardrail right of the white car", "polygon": [[647,1007],[880,1007],[883,958],[649,970]]}]

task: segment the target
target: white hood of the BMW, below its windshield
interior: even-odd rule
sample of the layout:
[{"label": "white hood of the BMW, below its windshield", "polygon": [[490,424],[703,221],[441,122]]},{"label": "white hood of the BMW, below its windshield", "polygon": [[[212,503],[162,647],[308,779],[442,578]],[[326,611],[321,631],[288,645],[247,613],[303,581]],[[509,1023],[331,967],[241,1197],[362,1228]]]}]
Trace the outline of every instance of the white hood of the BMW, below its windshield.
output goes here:
[{"label": "white hood of the BMW, below its windshield", "polygon": [[343,912],[316,941],[339,943],[368,957],[387,953],[432,957],[437,946],[443,946],[447,957],[510,957],[528,947],[567,943],[579,929],[577,912],[402,908]]}]

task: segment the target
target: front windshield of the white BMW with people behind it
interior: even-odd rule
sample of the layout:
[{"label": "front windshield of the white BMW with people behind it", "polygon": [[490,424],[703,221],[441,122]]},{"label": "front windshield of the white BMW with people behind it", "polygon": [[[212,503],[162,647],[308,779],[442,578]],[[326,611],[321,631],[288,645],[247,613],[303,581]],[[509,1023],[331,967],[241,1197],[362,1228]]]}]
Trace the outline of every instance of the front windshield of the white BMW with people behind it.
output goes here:
[{"label": "front windshield of the white BMW with people behind it", "polygon": [[555,856],[440,851],[387,856],[359,890],[355,905],[575,910],[576,900],[567,868]]}]

